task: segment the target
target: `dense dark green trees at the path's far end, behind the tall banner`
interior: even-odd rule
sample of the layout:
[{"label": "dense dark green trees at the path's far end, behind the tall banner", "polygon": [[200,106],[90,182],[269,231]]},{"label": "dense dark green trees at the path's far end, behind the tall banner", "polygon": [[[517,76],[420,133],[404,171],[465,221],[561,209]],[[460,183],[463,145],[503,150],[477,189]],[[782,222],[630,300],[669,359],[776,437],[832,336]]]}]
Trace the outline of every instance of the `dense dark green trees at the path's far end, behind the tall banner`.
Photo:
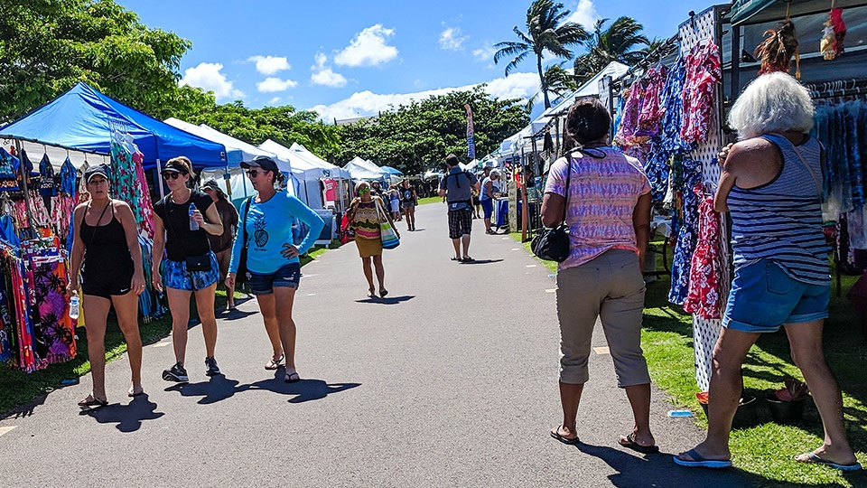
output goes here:
[{"label": "dense dark green trees at the path's far end, behind the tall banner", "polygon": [[472,109],[477,155],[493,152],[503,139],[529,123],[529,112],[520,100],[494,99],[482,85],[413,101],[378,118],[340,126],[342,144],[326,155],[340,163],[359,156],[405,174],[424,173],[443,163],[450,153],[463,155],[465,160],[466,103]]}]

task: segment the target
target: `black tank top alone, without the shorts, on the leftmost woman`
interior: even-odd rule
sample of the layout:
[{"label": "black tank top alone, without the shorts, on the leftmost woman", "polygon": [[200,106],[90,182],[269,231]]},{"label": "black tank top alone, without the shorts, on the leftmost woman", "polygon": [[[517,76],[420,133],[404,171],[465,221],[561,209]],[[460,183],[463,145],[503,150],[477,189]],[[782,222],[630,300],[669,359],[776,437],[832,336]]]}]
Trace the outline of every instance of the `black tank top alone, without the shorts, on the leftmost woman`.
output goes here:
[{"label": "black tank top alone, without the shorts, on the leftmost woman", "polygon": [[[85,244],[84,272],[91,276],[95,273],[116,275],[133,268],[133,257],[126,246],[124,225],[115,216],[115,206],[111,202],[108,204],[111,205],[111,221],[106,225],[89,225],[87,212],[81,218],[79,236]],[[102,220],[102,216],[99,220]]]}]

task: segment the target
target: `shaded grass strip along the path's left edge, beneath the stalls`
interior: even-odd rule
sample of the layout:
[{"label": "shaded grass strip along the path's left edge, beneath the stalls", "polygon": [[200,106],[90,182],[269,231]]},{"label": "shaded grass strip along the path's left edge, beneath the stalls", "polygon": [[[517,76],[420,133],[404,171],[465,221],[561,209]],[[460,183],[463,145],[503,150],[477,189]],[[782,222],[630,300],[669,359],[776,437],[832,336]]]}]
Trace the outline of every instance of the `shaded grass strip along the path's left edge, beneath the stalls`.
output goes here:
[{"label": "shaded grass strip along the path's left edge, beneath the stalls", "polygon": [[[338,246],[340,246],[340,241],[335,240],[331,242],[329,248],[334,249]],[[318,258],[326,250],[320,247],[312,249],[301,258],[302,266]],[[236,294],[236,296],[243,295]],[[224,305],[226,305],[226,291],[220,286],[217,290],[215,306],[219,309]],[[159,342],[172,333],[172,317],[166,313],[160,320],[147,324],[140,323],[139,331],[145,345]],[[51,364],[47,369],[31,374],[13,370],[5,364],[0,364],[0,418],[5,412],[28,404],[53,389],[61,388],[61,382],[64,380],[78,381],[79,376],[89,373],[87,335],[83,328],[77,329],[76,333],[79,335],[78,353],[72,361]],[[109,314],[106,330],[106,359],[107,361],[116,360],[122,357],[125,352],[124,335],[117,327],[117,319],[114,314]]]}]

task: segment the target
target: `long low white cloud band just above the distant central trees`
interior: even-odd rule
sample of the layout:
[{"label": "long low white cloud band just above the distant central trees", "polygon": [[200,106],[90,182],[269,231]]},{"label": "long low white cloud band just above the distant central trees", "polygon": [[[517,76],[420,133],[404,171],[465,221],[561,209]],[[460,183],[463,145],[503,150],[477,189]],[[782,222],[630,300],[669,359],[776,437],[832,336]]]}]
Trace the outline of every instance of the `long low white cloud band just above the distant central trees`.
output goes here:
[{"label": "long low white cloud band just above the distant central trees", "polygon": [[[427,99],[433,95],[444,95],[452,91],[466,91],[474,86],[476,85],[384,95],[365,90],[353,93],[349,99],[343,99],[331,105],[317,105],[311,110],[319,112],[322,120],[326,122],[331,122],[335,118],[340,120],[365,117],[376,115],[380,111],[386,111],[399,105],[409,105],[413,100]],[[487,91],[498,99],[529,99],[538,89],[539,78],[536,73],[513,73],[508,78],[488,81]]]}]

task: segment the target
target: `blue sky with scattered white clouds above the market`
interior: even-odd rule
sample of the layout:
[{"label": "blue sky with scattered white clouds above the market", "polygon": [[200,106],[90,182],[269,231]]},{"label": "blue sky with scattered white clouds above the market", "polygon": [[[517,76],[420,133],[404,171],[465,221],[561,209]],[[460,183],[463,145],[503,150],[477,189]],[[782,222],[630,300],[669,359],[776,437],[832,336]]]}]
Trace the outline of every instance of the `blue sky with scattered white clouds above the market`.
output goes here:
[{"label": "blue sky with scattered white clouds above the market", "polygon": [[[323,119],[367,116],[448,89],[489,84],[501,98],[538,90],[528,57],[504,76],[493,44],[526,31],[529,0],[117,0],[143,23],[192,42],[182,83],[210,89],[218,102],[292,105]],[[629,15],[648,37],[676,33],[706,0],[562,0],[575,22]],[[580,52],[581,48],[578,49]],[[552,62],[554,60],[545,60]]]}]

